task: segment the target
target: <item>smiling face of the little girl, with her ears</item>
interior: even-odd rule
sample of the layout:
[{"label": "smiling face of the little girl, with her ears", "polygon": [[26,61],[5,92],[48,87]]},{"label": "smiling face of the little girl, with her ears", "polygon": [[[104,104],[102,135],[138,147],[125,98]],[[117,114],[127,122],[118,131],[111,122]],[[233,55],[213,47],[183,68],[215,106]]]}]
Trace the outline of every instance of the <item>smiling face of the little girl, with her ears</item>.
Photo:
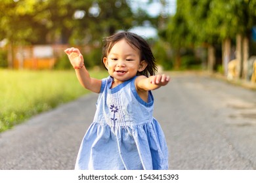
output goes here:
[{"label": "smiling face of the little girl, with her ears", "polygon": [[103,58],[105,67],[116,84],[121,84],[143,71],[148,65],[146,61],[140,61],[140,52],[121,39],[110,50],[108,56]]}]

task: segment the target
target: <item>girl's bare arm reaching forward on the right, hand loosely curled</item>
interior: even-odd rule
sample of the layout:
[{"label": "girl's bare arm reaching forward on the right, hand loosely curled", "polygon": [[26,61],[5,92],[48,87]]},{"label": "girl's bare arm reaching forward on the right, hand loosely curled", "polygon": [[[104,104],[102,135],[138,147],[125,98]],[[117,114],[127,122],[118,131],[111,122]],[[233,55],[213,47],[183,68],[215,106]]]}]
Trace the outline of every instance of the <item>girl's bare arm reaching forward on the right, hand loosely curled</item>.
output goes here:
[{"label": "girl's bare arm reaching forward on the right, hand loosely curled", "polygon": [[168,84],[169,80],[170,77],[166,75],[150,76],[149,78],[146,76],[138,76],[135,80],[135,86],[138,92],[156,90]]}]

